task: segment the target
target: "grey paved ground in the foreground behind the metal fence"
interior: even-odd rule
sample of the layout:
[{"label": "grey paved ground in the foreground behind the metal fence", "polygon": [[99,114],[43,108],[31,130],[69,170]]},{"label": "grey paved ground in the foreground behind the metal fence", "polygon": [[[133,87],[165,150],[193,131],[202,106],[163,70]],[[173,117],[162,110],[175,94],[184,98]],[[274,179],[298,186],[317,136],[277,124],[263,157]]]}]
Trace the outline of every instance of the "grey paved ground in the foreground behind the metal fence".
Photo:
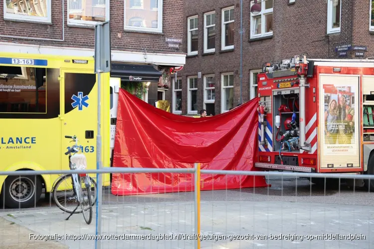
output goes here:
[{"label": "grey paved ground in the foreground behind the metal fence", "polygon": [[[202,191],[201,249],[374,248],[373,193],[353,191],[346,186],[317,189],[308,180],[298,180],[296,184],[275,179],[271,184],[271,188]],[[186,235],[195,234],[193,214],[193,192],[117,197],[106,190],[102,234],[119,237],[102,240],[102,248],[192,249],[194,241]],[[0,217],[7,223],[0,227],[0,235],[6,240],[0,240],[0,248],[37,245],[42,249],[44,241],[37,236],[59,235],[61,238],[50,238],[61,239],[58,242],[45,243],[58,245],[53,245],[54,248],[94,249],[95,240],[87,235],[95,235],[95,218],[87,225],[82,214],[65,221],[67,216],[48,202],[32,209],[3,209]],[[9,226],[18,231],[9,234]],[[30,233],[35,237],[30,239]],[[331,237],[337,234],[350,238]],[[78,235],[85,238],[78,239]],[[142,240],[123,235],[154,238]],[[169,237],[156,240],[160,235],[174,236],[177,240]],[[270,238],[271,235],[278,238]],[[358,236],[351,240],[355,235]]]}]

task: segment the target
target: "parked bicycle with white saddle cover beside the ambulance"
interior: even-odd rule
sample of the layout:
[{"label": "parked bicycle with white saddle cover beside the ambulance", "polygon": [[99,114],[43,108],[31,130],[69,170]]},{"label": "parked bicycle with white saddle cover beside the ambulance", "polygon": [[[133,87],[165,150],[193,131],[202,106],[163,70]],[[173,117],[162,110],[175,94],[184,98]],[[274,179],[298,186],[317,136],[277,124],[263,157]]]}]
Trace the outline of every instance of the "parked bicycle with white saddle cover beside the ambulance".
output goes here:
[{"label": "parked bicycle with white saddle cover beside the ambulance", "polygon": [[[68,148],[68,151],[65,152],[65,155],[69,155],[69,168],[71,170],[81,170],[87,167],[86,156],[83,153],[78,153],[80,151],[81,146],[78,145],[78,139],[74,136],[65,136],[65,138],[71,138],[72,141],[75,142],[71,148]],[[81,150],[82,151],[82,150]],[[82,151],[83,152],[83,151]],[[71,155],[73,153],[73,155]],[[78,154],[77,154],[78,153]],[[71,178],[71,179],[70,179]],[[64,180],[68,180],[66,187],[60,185],[63,183]],[[71,186],[69,186],[71,184]],[[94,188],[94,196],[91,196],[91,184],[93,184]],[[58,194],[60,189],[64,192],[64,201],[73,201],[77,204],[74,210],[71,210],[65,206],[63,206],[59,201]],[[72,188],[72,196],[66,197],[66,191],[69,190],[69,187]],[[73,214],[81,213],[83,214],[83,218],[87,224],[92,222],[92,206],[95,205],[96,202],[96,182],[95,180],[90,177],[88,174],[64,174],[59,176],[55,183],[53,184],[53,200],[56,203],[57,207],[59,207],[62,211],[66,213],[70,213],[69,217],[65,220],[68,220]],[[84,195],[84,190],[87,190],[87,195]],[[80,210],[77,210],[81,207]],[[88,213],[87,213],[88,211]]]}]

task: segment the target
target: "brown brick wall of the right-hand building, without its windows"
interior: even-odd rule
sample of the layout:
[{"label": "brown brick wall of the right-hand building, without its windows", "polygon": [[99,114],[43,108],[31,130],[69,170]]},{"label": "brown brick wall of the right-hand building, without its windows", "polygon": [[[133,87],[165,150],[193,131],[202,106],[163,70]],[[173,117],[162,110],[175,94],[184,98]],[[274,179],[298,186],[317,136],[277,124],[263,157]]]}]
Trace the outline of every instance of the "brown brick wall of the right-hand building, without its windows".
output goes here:
[{"label": "brown brick wall of the right-hand building, without its windows", "polygon": [[[234,50],[222,53],[221,8],[234,5]],[[325,0],[274,0],[273,35],[266,39],[249,39],[250,1],[243,1],[243,102],[250,99],[250,70],[260,69],[266,62],[278,62],[294,55],[309,58],[338,58],[335,46],[343,44],[367,46],[365,57],[374,56],[373,34],[369,32],[370,0],[342,0],[341,31],[327,35],[327,3]],[[215,53],[203,53],[203,13],[215,10]],[[220,73],[234,72],[234,106],[239,103],[240,92],[240,1],[239,0],[187,0],[184,17],[184,47],[187,52],[187,17],[198,14],[198,55],[187,57],[179,73],[183,80],[183,115],[187,114],[187,76],[201,72],[198,79],[198,110],[203,108],[203,75],[215,75],[215,114],[221,110]],[[354,57],[350,51],[349,58]],[[172,99],[172,91],[170,92]]]}]

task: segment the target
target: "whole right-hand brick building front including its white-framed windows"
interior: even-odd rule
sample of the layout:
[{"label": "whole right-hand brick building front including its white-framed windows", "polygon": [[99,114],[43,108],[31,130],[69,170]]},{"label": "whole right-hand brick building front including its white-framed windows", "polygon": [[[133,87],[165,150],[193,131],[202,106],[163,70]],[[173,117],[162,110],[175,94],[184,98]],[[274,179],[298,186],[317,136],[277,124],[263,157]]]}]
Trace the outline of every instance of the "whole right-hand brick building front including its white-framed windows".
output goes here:
[{"label": "whole right-hand brick building front including its white-framed windows", "polygon": [[[374,56],[374,0],[258,0],[256,14],[250,12],[253,3],[242,6],[243,103],[256,96],[256,75],[264,63],[301,54],[338,58],[335,48],[347,44],[366,46],[364,57]],[[187,0],[183,27],[187,59],[170,92],[173,112],[198,115],[206,109],[214,115],[236,107],[240,1]],[[355,51],[342,58],[355,58]]]}]

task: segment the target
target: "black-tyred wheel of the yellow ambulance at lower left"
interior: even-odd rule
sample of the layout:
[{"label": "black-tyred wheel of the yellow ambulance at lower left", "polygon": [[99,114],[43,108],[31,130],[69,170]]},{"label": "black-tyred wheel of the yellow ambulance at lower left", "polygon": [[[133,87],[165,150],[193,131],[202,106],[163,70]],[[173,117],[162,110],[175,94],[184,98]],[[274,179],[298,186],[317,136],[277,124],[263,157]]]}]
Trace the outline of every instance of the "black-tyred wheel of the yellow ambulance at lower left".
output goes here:
[{"label": "black-tyred wheel of the yellow ambulance at lower left", "polygon": [[3,185],[4,205],[8,208],[34,207],[40,199],[42,183],[39,176],[8,176]]}]

